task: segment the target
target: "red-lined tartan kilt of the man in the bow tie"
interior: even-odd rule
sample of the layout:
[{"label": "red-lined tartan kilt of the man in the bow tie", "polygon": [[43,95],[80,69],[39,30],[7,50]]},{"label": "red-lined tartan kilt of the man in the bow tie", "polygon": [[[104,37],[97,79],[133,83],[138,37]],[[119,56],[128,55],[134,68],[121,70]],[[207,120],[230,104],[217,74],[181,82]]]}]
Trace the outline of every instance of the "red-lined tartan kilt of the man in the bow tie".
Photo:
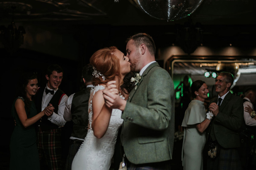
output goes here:
[{"label": "red-lined tartan kilt of the man in the bow tie", "polygon": [[46,164],[49,170],[61,170],[61,129],[42,131],[39,127],[37,137],[41,169]]}]

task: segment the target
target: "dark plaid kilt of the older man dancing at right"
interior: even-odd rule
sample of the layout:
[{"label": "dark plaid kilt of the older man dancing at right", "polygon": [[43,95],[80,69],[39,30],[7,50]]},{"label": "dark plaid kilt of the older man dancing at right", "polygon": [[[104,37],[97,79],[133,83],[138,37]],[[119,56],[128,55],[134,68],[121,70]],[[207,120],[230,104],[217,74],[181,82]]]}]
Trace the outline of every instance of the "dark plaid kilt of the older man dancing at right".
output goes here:
[{"label": "dark plaid kilt of the older man dancing at right", "polygon": [[219,155],[219,170],[241,170],[240,157],[237,149],[221,148]]}]

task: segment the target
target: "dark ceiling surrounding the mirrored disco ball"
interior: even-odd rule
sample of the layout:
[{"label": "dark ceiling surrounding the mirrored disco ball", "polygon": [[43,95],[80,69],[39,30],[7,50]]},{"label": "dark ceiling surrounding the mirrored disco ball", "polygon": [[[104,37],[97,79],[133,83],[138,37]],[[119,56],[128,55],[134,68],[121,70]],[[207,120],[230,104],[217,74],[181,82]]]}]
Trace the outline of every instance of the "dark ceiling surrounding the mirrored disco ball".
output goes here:
[{"label": "dark ceiling surrounding the mirrored disco ball", "polygon": [[[255,0],[204,0],[189,17],[204,25],[255,24],[255,4]],[[0,16],[0,22],[10,22],[14,16],[16,22],[110,25],[174,25],[187,21],[155,19],[141,11],[134,0],[0,0]]]}]

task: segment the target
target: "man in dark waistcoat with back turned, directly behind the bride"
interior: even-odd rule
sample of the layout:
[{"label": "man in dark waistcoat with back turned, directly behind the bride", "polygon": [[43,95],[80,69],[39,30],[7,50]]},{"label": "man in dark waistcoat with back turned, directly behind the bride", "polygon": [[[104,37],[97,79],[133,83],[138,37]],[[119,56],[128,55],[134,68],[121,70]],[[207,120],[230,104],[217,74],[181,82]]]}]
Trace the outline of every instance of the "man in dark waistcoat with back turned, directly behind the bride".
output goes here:
[{"label": "man in dark waistcoat with back turned, directly behind the bride", "polygon": [[64,119],[71,121],[73,124],[73,130],[70,137],[69,153],[65,170],[71,170],[72,161],[84,141],[87,134],[88,125],[88,102],[90,98],[93,78],[93,66],[88,64],[83,68],[83,81],[86,88],[76,92],[69,96],[64,111]]}]

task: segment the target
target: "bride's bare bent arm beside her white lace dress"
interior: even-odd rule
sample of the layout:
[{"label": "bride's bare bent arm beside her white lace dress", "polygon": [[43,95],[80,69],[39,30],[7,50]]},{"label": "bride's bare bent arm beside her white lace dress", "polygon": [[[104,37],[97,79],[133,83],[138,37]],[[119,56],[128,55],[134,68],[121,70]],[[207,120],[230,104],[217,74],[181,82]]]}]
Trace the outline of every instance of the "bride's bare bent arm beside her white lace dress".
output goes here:
[{"label": "bride's bare bent arm beside her white lace dress", "polygon": [[108,130],[112,109],[107,107],[103,98],[103,90],[96,92],[93,96],[93,122],[91,128],[94,136],[102,138]]}]

